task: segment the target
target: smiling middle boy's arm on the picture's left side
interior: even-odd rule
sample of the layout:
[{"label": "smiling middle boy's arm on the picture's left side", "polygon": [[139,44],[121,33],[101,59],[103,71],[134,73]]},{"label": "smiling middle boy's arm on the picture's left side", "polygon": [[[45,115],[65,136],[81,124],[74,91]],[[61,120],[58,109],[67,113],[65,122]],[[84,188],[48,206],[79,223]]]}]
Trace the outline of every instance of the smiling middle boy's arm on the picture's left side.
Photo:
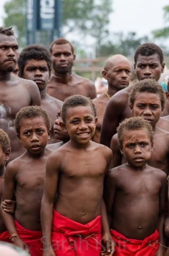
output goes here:
[{"label": "smiling middle boy's arm on the picture's left side", "polygon": [[52,248],[51,233],[54,197],[57,191],[58,174],[60,172],[60,159],[58,159],[57,155],[59,154],[51,153],[47,159],[43,198],[41,200],[40,218],[43,231],[44,256],[55,256]]}]

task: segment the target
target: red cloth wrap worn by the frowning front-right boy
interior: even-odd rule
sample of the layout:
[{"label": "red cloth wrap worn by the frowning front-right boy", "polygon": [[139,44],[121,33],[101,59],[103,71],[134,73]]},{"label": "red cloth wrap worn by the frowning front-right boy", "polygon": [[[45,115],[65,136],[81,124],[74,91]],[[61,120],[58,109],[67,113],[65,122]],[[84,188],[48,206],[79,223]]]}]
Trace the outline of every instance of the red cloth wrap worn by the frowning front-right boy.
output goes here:
[{"label": "red cloth wrap worn by the frowning front-right boy", "polygon": [[111,229],[111,235],[116,243],[113,256],[153,256],[158,249],[157,229],[143,240],[127,238],[113,229]]}]

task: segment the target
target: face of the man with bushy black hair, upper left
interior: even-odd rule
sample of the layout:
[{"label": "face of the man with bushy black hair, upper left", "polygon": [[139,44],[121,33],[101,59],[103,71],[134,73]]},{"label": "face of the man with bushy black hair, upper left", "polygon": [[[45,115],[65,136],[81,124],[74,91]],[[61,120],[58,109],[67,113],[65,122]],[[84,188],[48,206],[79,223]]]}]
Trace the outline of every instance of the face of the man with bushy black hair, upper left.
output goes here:
[{"label": "face of the man with bushy black hair, upper left", "polygon": [[23,69],[24,79],[34,81],[43,90],[49,81],[49,69],[46,60],[27,60]]}]

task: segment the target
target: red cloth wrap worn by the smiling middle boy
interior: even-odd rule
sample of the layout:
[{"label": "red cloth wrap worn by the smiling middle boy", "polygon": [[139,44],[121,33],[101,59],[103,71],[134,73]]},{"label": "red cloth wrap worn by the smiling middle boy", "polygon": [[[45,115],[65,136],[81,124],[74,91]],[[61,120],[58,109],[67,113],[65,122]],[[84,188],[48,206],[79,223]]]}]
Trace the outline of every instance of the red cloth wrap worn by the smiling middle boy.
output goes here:
[{"label": "red cloth wrap worn by the smiling middle boy", "polygon": [[86,225],[54,210],[52,247],[57,256],[99,256],[102,249],[101,216]]}]

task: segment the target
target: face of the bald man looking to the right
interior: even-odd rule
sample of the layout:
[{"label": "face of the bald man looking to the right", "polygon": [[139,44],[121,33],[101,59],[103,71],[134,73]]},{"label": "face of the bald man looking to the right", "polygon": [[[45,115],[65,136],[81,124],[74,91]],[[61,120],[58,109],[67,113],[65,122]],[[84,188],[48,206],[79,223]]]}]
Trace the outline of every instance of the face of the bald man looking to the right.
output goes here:
[{"label": "face of the bald man looking to the right", "polygon": [[131,77],[130,64],[126,60],[119,60],[109,64],[107,70],[103,71],[103,76],[108,81],[108,85],[117,91],[124,89],[129,85]]}]

